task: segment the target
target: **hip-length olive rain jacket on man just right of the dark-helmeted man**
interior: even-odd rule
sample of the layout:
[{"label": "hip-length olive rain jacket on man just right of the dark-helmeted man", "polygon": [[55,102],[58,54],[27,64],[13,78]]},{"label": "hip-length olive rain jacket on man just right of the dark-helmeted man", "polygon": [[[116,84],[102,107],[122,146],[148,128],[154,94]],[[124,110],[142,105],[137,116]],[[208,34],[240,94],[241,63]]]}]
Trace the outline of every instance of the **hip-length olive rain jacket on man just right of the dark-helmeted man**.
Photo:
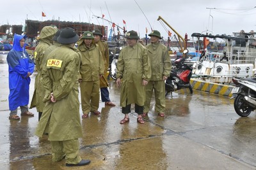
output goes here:
[{"label": "hip-length olive rain jacket on man just right of the dark-helmeted man", "polygon": [[99,80],[99,75],[104,74],[104,62],[99,46],[92,43],[92,47],[87,48],[82,42],[78,45],[78,50],[81,52],[80,74],[82,81]]}]

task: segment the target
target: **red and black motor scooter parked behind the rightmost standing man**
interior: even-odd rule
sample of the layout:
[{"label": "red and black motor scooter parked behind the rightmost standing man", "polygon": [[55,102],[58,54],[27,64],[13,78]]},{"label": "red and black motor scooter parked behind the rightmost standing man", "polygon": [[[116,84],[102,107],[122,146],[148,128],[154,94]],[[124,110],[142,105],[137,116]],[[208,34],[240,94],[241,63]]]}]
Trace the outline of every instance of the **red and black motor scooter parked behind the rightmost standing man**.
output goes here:
[{"label": "red and black motor scooter parked behind the rightmost standing man", "polygon": [[181,57],[172,61],[170,76],[165,81],[165,96],[170,92],[172,94],[175,90],[186,88],[189,89],[191,94],[193,93],[193,89],[189,82],[192,76],[192,68],[184,63],[185,60],[184,57]]}]

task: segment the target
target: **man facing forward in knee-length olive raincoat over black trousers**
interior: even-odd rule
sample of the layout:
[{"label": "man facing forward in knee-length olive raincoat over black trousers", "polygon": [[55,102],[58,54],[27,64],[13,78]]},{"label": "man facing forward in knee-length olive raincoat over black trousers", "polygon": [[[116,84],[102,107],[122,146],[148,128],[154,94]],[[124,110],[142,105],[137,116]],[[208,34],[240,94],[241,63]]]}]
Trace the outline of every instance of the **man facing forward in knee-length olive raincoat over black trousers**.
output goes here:
[{"label": "man facing forward in knee-length olive raincoat over black trousers", "polygon": [[122,87],[120,105],[122,113],[125,114],[120,124],[129,122],[132,103],[135,104],[135,112],[138,113],[137,122],[144,124],[141,115],[145,103],[145,85],[151,76],[150,60],[147,48],[138,43],[139,37],[136,31],[127,32],[125,38],[127,38],[127,46],[120,51],[116,67],[116,85]]}]

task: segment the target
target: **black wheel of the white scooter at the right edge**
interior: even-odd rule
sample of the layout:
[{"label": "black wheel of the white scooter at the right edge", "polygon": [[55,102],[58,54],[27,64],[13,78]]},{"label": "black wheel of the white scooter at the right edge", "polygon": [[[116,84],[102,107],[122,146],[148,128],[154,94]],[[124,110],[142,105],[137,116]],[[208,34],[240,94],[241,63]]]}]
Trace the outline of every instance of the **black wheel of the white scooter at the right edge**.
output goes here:
[{"label": "black wheel of the white scooter at the right edge", "polygon": [[238,94],[235,101],[234,101],[234,108],[236,110],[237,115],[240,117],[248,117],[250,113],[253,111],[253,109],[246,104],[244,101],[244,96],[241,94]]}]

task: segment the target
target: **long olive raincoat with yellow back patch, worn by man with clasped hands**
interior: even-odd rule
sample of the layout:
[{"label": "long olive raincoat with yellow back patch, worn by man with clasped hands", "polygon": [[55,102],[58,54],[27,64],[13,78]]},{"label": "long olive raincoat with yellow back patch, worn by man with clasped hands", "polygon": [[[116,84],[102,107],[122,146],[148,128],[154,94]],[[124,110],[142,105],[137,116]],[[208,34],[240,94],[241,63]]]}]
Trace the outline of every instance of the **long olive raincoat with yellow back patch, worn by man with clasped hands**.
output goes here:
[{"label": "long olive raincoat with yellow back patch, worn by man with clasped hands", "polygon": [[[49,141],[81,138],[77,82],[81,53],[76,48],[61,45],[47,59],[42,72],[46,104],[35,134],[42,137],[47,132]],[[51,92],[56,103],[50,101]]]}]

